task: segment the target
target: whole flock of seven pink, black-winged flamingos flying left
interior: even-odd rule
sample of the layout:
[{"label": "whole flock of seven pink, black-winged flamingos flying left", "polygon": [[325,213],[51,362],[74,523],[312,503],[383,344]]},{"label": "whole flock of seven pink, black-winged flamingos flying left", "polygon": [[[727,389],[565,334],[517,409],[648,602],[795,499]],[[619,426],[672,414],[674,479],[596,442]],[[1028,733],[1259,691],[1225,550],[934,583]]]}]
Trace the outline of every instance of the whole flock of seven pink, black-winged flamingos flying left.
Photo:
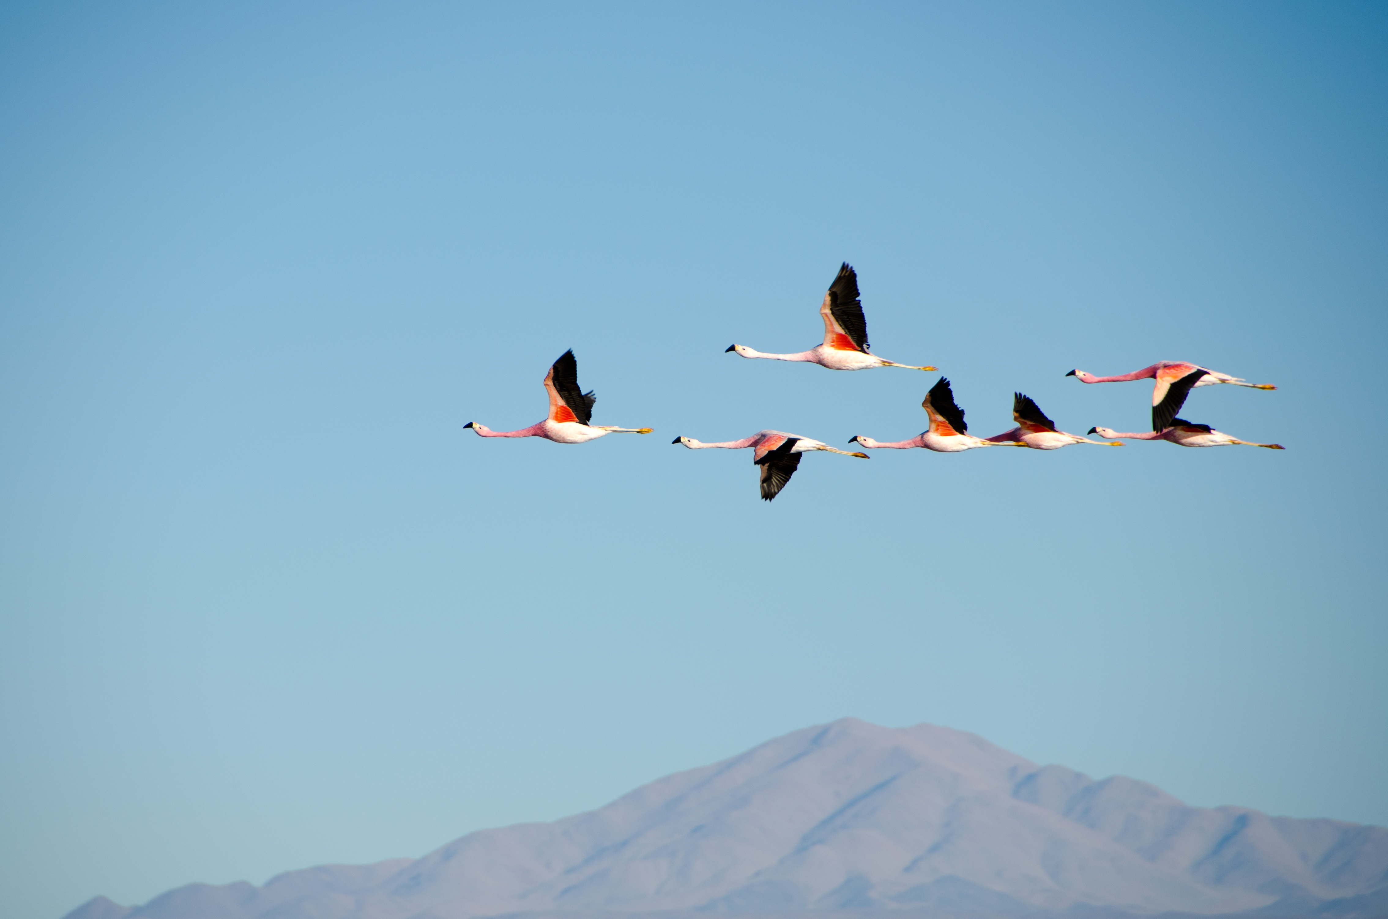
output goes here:
[{"label": "whole flock of seven pink, black-winged flamingos flying left", "polygon": [[[911,364],[897,364],[880,358],[867,346],[867,321],[863,317],[861,296],[858,292],[858,273],[852,265],[844,262],[838,275],[824,293],[824,300],[819,307],[819,315],[824,322],[824,340],[808,351],[794,354],[769,354],[755,351],[743,344],[731,344],[727,351],[745,358],[765,358],[772,361],[795,361],[804,364],[819,364],[831,371],[866,371],[879,366],[899,366],[909,371],[936,371],[938,368]],[[1209,425],[1199,425],[1178,418],[1181,408],[1192,389],[1199,386],[1214,386],[1228,383],[1233,386],[1246,386],[1249,389],[1277,389],[1269,383],[1248,383],[1239,376],[1220,373],[1198,364],[1180,361],[1158,361],[1131,373],[1119,376],[1095,376],[1085,371],[1073,369],[1066,376],[1073,376],[1081,383],[1119,383],[1126,380],[1155,379],[1152,387],[1152,430],[1137,433],[1119,433],[1112,428],[1095,425],[1088,433],[1099,435],[1103,440],[1091,440],[1080,435],[1063,432],[1047,416],[1033,398],[1022,393],[1013,393],[1012,418],[1016,426],[992,437],[976,437],[969,433],[969,425],[963,419],[963,410],[955,403],[949,380],[941,376],[926,393],[920,407],[926,410],[930,426],[909,440],[884,443],[855,435],[848,443],[858,444],[863,450],[908,450],[922,447],[934,453],[962,453],[979,447],[1029,447],[1031,450],[1059,450],[1070,444],[1097,444],[1103,447],[1122,447],[1124,440],[1166,440],[1180,447],[1224,447],[1242,444],[1248,447],[1266,447],[1269,450],[1284,450],[1281,444],[1263,444],[1251,440],[1239,440]],[[576,444],[597,440],[613,433],[648,435],[651,428],[615,428],[608,425],[593,425],[593,405],[597,397],[579,386],[579,366],[573,351],[565,351],[550,366],[544,376],[544,389],[550,397],[550,412],[544,421],[539,421],[529,428],[519,430],[491,430],[484,425],[468,422],[464,428],[471,428],[479,437],[544,437],[555,443]],[[783,430],[759,430],[741,440],[725,440],[718,443],[702,443],[693,437],[676,437],[675,444],[683,444],[690,450],[706,450],[718,447],[723,450],[752,448],[752,464],[758,466],[758,484],[762,500],[770,501],[799,466],[799,460],[806,453],[837,453],[845,457],[867,460],[866,453],[848,453],[830,447],[820,440],[790,435]]]}]

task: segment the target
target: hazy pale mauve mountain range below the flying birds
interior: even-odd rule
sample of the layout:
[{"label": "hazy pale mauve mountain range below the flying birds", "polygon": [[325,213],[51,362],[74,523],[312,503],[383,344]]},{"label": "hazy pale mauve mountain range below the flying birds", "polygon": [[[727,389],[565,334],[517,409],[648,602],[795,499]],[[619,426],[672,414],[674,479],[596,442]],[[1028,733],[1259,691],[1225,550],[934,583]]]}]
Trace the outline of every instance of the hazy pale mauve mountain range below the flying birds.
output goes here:
[{"label": "hazy pale mauve mountain range below the flying birds", "polygon": [[809,909],[1385,916],[1388,830],[1192,808],[963,732],[844,719],[418,861],[190,884],[143,907],[99,897],[68,919]]}]

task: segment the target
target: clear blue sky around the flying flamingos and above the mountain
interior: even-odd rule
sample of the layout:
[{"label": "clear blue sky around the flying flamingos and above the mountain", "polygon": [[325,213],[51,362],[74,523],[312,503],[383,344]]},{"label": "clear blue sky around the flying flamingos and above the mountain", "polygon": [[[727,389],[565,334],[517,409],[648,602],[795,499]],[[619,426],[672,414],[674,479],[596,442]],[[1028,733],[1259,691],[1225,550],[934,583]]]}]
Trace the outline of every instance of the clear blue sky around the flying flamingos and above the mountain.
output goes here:
[{"label": "clear blue sky around the flying flamingos and above the mountain", "polygon": [[[1388,823],[1382,4],[8,4],[0,913],[422,855],[855,715]],[[1135,443],[805,460],[1020,389]],[[597,423],[543,416],[575,348]]]}]

